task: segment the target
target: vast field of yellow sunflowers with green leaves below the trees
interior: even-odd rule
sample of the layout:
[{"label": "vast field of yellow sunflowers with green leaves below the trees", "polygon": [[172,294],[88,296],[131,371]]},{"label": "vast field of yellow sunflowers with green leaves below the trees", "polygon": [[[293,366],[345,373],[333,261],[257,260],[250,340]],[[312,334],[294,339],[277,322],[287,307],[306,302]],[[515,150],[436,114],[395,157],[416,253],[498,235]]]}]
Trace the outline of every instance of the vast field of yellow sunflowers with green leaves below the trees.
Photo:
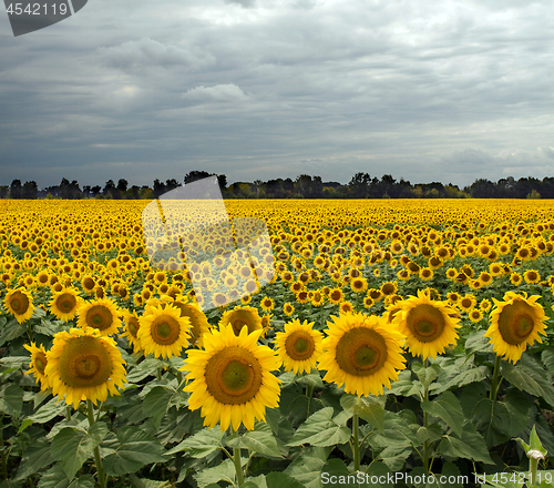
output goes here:
[{"label": "vast field of yellow sunflowers with green leaves below the trees", "polygon": [[0,200],[0,488],[554,487],[553,202],[145,205]]}]

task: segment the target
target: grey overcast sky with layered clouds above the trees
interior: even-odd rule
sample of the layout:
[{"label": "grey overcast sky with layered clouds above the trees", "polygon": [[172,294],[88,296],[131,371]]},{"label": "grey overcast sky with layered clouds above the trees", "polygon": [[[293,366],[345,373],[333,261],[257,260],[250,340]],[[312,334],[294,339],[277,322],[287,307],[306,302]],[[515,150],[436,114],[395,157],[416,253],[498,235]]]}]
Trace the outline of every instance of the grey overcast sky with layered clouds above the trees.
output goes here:
[{"label": "grey overcast sky with layered clouds above the trees", "polygon": [[[3,7],[2,7],[3,9]],[[0,184],[554,176],[551,1],[89,0],[0,14]]]}]

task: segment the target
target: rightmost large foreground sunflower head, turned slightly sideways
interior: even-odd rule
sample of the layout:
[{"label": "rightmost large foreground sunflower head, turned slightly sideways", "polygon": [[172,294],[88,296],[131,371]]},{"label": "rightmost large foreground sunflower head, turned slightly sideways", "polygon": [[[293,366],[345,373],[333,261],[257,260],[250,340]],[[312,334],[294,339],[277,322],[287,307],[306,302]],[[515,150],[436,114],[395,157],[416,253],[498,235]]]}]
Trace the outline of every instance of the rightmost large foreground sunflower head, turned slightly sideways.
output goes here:
[{"label": "rightmost large foreground sunflower head, turned slightly sideways", "polygon": [[515,364],[523,352],[535,340],[542,343],[538,334],[546,335],[544,324],[547,319],[542,305],[536,301],[540,295],[527,298],[527,294],[517,295],[513,292],[504,294],[504,301],[493,298],[494,308],[491,312],[491,325],[485,337],[494,345],[497,356]]}]

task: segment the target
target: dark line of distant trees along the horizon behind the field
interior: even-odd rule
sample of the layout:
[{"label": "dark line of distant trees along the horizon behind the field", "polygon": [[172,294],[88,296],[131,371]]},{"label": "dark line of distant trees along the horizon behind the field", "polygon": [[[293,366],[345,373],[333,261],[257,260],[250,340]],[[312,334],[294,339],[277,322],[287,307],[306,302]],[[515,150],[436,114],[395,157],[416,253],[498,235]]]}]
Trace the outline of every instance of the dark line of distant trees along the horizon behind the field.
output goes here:
[{"label": "dark line of distant trees along the horizon behind the field", "polygon": [[113,199],[113,200],[153,200],[183,184],[217,176],[224,199],[554,199],[554,177],[512,176],[492,182],[475,180],[470,186],[460,189],[451,183],[440,182],[411,184],[404,179],[397,181],[384,174],[380,179],[369,173],[356,173],[349,183],[324,182],[321,176],[300,174],[296,180],[277,179],[254,182],[236,182],[227,185],[225,174],[206,171],[191,171],[183,179],[170,179],[165,182],[156,179],[152,186],[129,185],[125,179],[115,183],[109,180],[104,186],[84,185],[70,182],[65,177],[59,185],[39,190],[34,181],[21,183],[13,180],[11,185],[0,185],[0,199]]}]

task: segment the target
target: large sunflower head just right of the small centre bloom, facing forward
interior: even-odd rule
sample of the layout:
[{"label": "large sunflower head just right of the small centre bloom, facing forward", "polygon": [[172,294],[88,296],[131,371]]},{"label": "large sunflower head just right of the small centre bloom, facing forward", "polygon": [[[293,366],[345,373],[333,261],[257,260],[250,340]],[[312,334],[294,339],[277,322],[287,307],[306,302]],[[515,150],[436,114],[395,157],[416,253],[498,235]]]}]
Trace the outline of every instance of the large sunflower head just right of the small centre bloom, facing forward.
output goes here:
[{"label": "large sunflower head just right of the small centre bloom, facing forward", "polygon": [[358,397],[380,395],[383,386],[390,388],[390,382],[406,368],[404,336],[376,315],[348,313],[331,318],[318,366],[327,372],[324,380],[345,385],[346,393]]}]

